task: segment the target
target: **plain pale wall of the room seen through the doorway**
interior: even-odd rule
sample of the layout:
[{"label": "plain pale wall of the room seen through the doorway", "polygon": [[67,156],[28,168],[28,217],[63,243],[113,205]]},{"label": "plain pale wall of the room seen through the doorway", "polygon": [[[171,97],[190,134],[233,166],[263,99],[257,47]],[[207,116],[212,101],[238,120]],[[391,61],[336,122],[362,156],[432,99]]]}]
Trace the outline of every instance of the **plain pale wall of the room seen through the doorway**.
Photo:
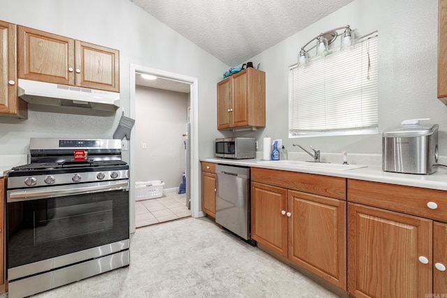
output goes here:
[{"label": "plain pale wall of the room seen through the doorway", "polygon": [[164,188],[179,187],[186,163],[182,134],[188,103],[189,94],[137,86],[135,181],[161,180]]}]

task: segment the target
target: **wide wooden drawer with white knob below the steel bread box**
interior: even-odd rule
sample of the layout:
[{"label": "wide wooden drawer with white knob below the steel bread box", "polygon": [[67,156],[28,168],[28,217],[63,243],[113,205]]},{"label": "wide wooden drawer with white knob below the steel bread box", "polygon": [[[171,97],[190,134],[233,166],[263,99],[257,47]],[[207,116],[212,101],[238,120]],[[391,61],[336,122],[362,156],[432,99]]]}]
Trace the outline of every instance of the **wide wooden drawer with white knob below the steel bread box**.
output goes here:
[{"label": "wide wooden drawer with white knob below the steel bread box", "polygon": [[447,222],[447,191],[348,179],[348,200]]}]

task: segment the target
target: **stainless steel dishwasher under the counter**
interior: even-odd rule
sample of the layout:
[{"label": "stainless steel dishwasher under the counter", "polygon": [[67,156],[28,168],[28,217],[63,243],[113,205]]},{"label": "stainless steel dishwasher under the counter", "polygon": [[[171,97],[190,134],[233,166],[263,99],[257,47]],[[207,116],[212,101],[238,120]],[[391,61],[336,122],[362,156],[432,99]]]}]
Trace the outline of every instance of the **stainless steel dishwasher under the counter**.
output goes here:
[{"label": "stainless steel dishwasher under the counter", "polygon": [[250,168],[216,166],[216,223],[255,246],[250,234]]}]

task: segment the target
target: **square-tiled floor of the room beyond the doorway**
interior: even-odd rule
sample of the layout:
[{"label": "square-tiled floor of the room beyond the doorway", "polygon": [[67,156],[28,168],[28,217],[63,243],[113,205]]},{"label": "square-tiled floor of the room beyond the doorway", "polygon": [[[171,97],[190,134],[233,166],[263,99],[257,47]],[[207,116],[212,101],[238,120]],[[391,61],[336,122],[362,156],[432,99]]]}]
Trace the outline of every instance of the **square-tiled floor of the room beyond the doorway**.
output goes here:
[{"label": "square-tiled floor of the room beyond the doorway", "polygon": [[161,198],[135,202],[135,226],[141,228],[191,216],[186,207],[186,193],[178,194],[177,191],[178,188],[166,189]]}]

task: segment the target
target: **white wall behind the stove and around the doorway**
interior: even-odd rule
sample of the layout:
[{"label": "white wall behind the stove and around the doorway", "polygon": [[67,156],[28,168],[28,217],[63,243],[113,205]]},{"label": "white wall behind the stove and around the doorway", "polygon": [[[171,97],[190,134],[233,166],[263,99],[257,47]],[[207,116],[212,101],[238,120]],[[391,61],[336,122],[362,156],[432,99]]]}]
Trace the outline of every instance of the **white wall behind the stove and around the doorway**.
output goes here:
[{"label": "white wall behind the stove and around the doorway", "polygon": [[[209,136],[217,134],[215,126],[208,125],[216,123],[215,113],[209,110],[216,108],[216,82],[228,66],[131,1],[0,0],[0,20],[119,50],[126,116],[130,64],[197,77],[199,135],[205,136],[199,139],[199,156]],[[31,105],[27,120],[0,117],[0,155],[27,154],[30,137],[112,137],[120,114],[121,110],[97,117]],[[124,159],[129,161],[129,151]]]}]

